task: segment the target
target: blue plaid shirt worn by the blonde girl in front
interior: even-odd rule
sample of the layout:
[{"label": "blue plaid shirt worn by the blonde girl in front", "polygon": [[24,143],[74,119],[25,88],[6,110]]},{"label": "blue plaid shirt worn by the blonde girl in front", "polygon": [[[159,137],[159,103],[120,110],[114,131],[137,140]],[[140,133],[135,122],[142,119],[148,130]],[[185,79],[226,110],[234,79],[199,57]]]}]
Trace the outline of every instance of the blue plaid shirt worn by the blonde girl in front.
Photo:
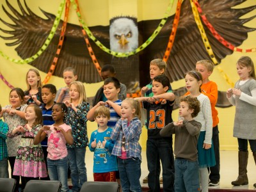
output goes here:
[{"label": "blue plaid shirt worn by the blonde girl in front", "polygon": [[141,122],[137,117],[133,118],[129,125],[127,125],[127,120],[118,120],[111,133],[111,140],[116,141],[112,155],[121,156],[122,138],[124,136],[127,157],[138,157],[141,160],[140,134]]}]

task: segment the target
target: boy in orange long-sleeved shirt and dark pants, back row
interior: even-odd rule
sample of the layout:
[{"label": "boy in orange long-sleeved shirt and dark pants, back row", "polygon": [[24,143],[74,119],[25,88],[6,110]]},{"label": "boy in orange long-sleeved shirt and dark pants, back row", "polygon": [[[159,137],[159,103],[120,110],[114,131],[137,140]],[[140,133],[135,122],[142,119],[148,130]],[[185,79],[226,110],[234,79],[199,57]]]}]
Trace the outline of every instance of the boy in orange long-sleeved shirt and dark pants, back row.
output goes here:
[{"label": "boy in orange long-sleeved shirt and dark pants, back row", "polygon": [[[200,60],[196,62],[196,70],[202,74],[203,82],[201,86],[202,93],[206,95],[211,102],[212,109],[212,144],[214,147],[214,154],[216,165],[210,168],[209,186],[220,185],[220,142],[219,142],[219,129],[218,129],[218,111],[215,106],[218,100],[218,86],[213,81],[209,80],[214,68],[214,64],[209,60]],[[186,93],[185,95],[188,95]]]}]

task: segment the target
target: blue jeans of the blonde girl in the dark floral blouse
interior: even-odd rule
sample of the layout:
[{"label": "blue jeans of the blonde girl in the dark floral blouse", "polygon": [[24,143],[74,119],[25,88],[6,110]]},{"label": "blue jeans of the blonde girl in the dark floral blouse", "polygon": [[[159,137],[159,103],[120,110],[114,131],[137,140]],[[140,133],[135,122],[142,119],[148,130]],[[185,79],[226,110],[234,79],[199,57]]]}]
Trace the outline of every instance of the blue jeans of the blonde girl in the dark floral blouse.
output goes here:
[{"label": "blue jeans of the blonde girl in the dark floral blouse", "polygon": [[68,148],[68,163],[71,171],[72,191],[80,191],[83,183],[87,181],[84,163],[85,147]]}]

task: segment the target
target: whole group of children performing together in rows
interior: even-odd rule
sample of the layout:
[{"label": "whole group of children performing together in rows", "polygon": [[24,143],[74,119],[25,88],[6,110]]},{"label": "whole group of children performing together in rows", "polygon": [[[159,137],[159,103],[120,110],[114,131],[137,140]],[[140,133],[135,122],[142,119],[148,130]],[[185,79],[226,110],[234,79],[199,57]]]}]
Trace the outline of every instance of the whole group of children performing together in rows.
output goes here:
[{"label": "whole group of children performing together in rows", "polygon": [[[3,149],[0,177],[8,177],[8,159],[12,177],[17,183],[22,176],[22,188],[28,180],[43,179],[48,173],[49,179],[61,181],[61,191],[68,191],[69,164],[72,191],[79,191],[87,180],[84,158],[88,146],[94,152],[95,181],[120,179],[122,191],[141,191],[139,140],[142,106],[147,111],[150,191],[160,191],[161,164],[164,191],[200,191],[201,186],[204,192],[208,191],[208,186],[218,186],[220,144],[215,108],[218,88],[216,83],[209,81],[213,67],[211,61],[201,60],[196,63],[196,70],[185,74],[188,93],[180,98],[179,119],[174,122],[175,95],[168,77],[164,76],[166,63],[161,59],[150,62],[152,82],[141,89],[142,97],[135,99],[125,99],[125,85],[115,78],[115,69],[111,65],[104,65],[101,74],[104,85],[95,95],[92,108],[87,102],[83,83],[76,81],[74,68],[64,70],[67,86],[60,88],[58,93],[52,84],[41,85],[37,70],[29,70],[26,78],[28,90],[24,93],[20,88],[13,88],[10,105],[0,110],[0,116],[4,117],[4,122],[0,121]],[[232,104],[239,106],[234,125],[234,136],[239,143],[239,177],[232,184],[243,185],[248,184],[244,165],[248,161],[247,140],[256,162],[252,122],[255,118],[250,118],[255,114],[252,111],[256,110],[252,60],[240,58],[237,73],[241,79],[234,89],[227,91],[227,97]],[[87,120],[95,120],[98,124],[90,141]],[[175,159],[172,134],[175,134]]]}]

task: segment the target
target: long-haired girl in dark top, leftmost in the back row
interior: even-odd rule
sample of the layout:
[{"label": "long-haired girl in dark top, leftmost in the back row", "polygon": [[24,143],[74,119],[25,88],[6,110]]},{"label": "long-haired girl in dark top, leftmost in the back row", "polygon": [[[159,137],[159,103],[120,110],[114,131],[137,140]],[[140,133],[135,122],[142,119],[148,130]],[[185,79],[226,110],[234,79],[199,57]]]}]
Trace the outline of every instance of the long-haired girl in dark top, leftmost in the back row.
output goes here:
[{"label": "long-haired girl in dark top, leftmost in the back row", "polygon": [[41,77],[35,68],[30,68],[26,75],[28,89],[24,92],[27,104],[35,103],[40,106],[43,102],[41,94]]}]

